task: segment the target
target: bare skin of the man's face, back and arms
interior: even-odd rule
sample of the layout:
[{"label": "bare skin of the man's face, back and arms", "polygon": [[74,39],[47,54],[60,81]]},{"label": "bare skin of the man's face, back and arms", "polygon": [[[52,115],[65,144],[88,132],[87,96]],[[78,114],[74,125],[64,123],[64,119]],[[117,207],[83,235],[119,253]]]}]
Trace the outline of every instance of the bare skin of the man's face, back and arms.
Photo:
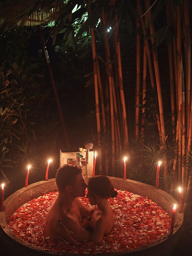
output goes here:
[{"label": "bare skin of the man's face, back and arms", "polygon": [[93,211],[84,206],[78,198],[85,195],[86,187],[84,177],[80,173],[75,176],[74,185],[67,185],[64,189],[58,191],[58,196],[47,214],[44,225],[44,231],[48,236],[55,239],[63,239],[63,236],[53,228],[54,221],[58,219],[67,227],[77,241],[90,239],[90,232],[81,227],[81,220],[82,217],[91,216]]}]

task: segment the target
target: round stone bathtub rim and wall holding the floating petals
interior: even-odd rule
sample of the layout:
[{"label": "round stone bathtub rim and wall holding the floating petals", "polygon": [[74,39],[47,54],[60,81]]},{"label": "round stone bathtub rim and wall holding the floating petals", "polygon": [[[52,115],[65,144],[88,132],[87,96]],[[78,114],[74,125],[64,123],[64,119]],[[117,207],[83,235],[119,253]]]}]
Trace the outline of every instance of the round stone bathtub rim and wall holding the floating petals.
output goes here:
[{"label": "round stone bathtub rim and wall holding the floating petals", "polygon": [[[178,206],[177,201],[168,193],[161,189],[156,189],[154,186],[150,186],[145,183],[141,183],[134,180],[123,180],[122,178],[110,177],[113,185],[116,189],[128,190],[134,194],[141,195],[143,197],[148,197],[155,203],[157,203],[164,210],[168,210],[168,214],[172,216],[172,207],[174,204]],[[9,196],[4,201],[4,211],[0,212],[0,238],[6,248],[9,251],[10,256],[48,256],[48,255],[64,255],[72,256],[74,253],[58,253],[48,250],[42,250],[37,246],[33,246],[26,241],[21,240],[9,229],[7,223],[9,216],[12,215],[15,210],[20,206],[25,204],[27,201],[33,198],[38,198],[45,193],[56,191],[57,187],[55,184],[55,179],[50,179],[48,181],[40,181],[33,183],[27,187],[17,190],[15,193]],[[178,207],[177,207],[178,209]],[[108,256],[118,256],[118,255],[131,255],[131,256],[170,256],[177,240],[179,238],[181,226],[183,224],[183,213],[176,211],[175,225],[173,234],[169,233],[162,236],[160,239],[153,241],[152,243],[146,244],[145,246],[137,247],[134,249],[118,251],[116,253],[105,253]],[[85,254],[78,254],[85,255]],[[90,256],[104,255],[103,253],[90,253]],[[4,255],[3,255],[4,256]]]}]

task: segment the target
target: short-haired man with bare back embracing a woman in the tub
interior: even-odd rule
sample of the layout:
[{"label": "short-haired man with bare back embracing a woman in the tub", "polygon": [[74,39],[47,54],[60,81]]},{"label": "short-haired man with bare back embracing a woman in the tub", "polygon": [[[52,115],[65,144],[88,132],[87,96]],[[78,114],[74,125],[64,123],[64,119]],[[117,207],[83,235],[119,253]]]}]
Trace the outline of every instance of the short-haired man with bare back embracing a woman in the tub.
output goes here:
[{"label": "short-haired man with bare back embracing a woman in the tub", "polygon": [[[70,230],[71,239],[89,241],[91,233],[81,227],[81,220],[91,216],[96,208],[95,206],[86,207],[78,198],[85,195],[87,188],[81,168],[64,165],[57,170],[55,180],[58,196],[47,214],[44,225],[45,233],[51,238],[63,239],[53,227],[54,221],[58,219]],[[74,241],[71,242],[74,244]]]}]

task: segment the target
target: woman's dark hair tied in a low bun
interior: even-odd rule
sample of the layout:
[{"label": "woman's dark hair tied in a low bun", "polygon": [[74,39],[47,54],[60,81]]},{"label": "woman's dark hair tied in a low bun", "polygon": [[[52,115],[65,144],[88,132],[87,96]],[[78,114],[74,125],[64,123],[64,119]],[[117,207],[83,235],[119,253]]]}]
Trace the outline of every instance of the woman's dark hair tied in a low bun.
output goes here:
[{"label": "woman's dark hair tied in a low bun", "polygon": [[114,190],[113,183],[110,178],[105,175],[99,175],[89,178],[88,191],[102,198],[115,197],[117,192]]}]

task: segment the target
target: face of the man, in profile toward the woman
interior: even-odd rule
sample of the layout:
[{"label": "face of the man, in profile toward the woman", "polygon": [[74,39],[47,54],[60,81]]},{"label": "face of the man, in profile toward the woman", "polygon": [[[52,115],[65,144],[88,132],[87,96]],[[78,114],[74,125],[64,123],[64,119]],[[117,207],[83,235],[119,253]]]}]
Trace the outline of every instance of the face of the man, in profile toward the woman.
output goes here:
[{"label": "face of the man, in profile toward the woman", "polygon": [[84,182],[84,177],[82,174],[76,175],[76,183],[73,186],[72,195],[73,197],[83,197],[85,195],[85,189],[87,184]]}]

